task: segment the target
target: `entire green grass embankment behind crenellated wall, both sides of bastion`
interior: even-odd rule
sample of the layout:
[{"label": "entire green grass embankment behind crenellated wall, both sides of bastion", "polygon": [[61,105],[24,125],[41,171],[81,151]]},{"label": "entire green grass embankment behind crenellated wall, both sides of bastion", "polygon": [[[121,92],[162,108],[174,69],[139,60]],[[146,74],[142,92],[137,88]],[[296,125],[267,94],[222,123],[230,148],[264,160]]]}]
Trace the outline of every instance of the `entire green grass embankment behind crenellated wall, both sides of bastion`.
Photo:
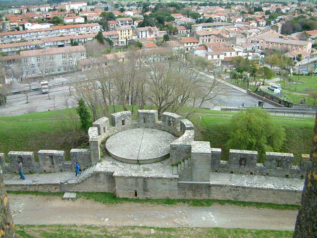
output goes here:
[{"label": "entire green grass embankment behind crenellated wall, both sides of bastion", "polygon": [[[128,109],[131,110],[131,106]],[[146,109],[154,108],[147,107]],[[134,107],[133,119],[137,119],[137,110],[138,107]],[[116,106],[115,111],[123,111],[123,108]],[[185,115],[190,111],[190,108],[184,108],[180,114]],[[75,109],[71,109],[70,113],[75,115]],[[224,150],[224,144],[229,138],[231,116],[235,114],[233,112],[199,109],[190,118],[195,125],[195,139],[210,141],[212,147],[223,149],[223,160],[228,159],[228,152]],[[199,120],[199,116],[202,117],[201,120]],[[9,151],[33,151],[37,159],[39,150],[64,150],[66,159],[69,160],[69,151],[76,147],[73,147],[67,140],[61,139],[65,136],[62,131],[70,127],[68,117],[68,110],[0,117],[0,152],[7,154]],[[276,121],[285,128],[287,135],[281,152],[294,153],[295,163],[298,164],[301,154],[310,151],[314,119],[280,118]],[[77,146],[77,148],[81,147]]]}]

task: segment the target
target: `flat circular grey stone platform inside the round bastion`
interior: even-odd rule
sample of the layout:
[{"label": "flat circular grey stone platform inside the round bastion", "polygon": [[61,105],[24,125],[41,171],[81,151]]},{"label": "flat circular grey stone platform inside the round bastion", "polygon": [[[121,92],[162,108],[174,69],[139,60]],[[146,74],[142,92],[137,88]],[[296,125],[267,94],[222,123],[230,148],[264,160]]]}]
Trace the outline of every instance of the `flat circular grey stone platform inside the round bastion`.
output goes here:
[{"label": "flat circular grey stone platform inside the round bastion", "polygon": [[126,163],[149,164],[169,156],[169,144],[177,137],[157,129],[137,128],[112,135],[106,141],[111,157]]}]

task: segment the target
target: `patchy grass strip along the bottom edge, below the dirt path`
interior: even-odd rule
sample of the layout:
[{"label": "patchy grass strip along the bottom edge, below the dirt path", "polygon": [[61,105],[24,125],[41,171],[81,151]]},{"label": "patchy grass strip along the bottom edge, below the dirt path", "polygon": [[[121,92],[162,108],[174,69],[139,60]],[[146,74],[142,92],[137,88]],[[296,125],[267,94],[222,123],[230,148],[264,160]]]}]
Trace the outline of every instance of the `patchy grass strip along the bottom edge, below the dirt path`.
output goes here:
[{"label": "patchy grass strip along the bottom edge, below the dirt path", "polygon": [[[291,231],[224,228],[17,225],[17,238],[292,238]],[[152,233],[151,233],[152,231]],[[154,233],[153,233],[154,232]]]}]

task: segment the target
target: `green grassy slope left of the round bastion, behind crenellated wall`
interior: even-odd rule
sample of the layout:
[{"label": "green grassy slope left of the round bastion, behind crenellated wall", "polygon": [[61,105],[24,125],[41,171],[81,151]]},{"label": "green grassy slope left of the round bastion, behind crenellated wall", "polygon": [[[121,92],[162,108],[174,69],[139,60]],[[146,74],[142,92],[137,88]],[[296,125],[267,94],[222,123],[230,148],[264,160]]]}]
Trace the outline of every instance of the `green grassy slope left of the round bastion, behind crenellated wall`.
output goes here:
[{"label": "green grassy slope left of the round bastion, behind crenellated wall", "polygon": [[64,111],[32,113],[15,117],[0,117],[0,151],[65,150],[71,148],[56,140],[56,132],[64,124]]}]

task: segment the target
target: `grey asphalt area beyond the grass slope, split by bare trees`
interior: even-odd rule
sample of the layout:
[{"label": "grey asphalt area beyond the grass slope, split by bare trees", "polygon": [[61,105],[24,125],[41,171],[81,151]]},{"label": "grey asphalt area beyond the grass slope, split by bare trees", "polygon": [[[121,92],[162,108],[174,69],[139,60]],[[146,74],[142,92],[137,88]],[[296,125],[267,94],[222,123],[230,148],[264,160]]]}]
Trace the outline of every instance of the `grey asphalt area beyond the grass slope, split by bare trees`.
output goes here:
[{"label": "grey asphalt area beyond the grass slope, split by bare trees", "polygon": [[[26,96],[24,94],[14,94],[7,97],[7,104],[5,107],[0,107],[0,116],[14,116],[22,115],[31,112],[43,112],[48,110],[58,110],[68,106],[73,107],[76,105],[76,99],[70,95],[68,85],[87,78],[87,72],[76,72],[54,79],[49,79],[50,85],[55,84],[55,87],[50,88],[50,99],[47,94],[42,94],[41,91],[32,91],[28,95],[29,103],[26,103]],[[63,85],[59,85],[63,82]],[[68,84],[70,83],[70,84]],[[19,85],[19,84],[18,84]],[[37,85],[34,83],[33,85]],[[239,89],[227,82],[220,83],[217,86],[220,94],[216,96],[213,103],[205,103],[205,108],[220,110],[220,107],[239,107],[244,103],[246,107],[255,106],[258,104],[258,99],[248,95],[246,90]],[[18,89],[19,86],[16,86]],[[74,91],[74,89],[71,89]],[[265,105],[266,106],[266,105]],[[268,105],[269,107],[273,107]]]}]

